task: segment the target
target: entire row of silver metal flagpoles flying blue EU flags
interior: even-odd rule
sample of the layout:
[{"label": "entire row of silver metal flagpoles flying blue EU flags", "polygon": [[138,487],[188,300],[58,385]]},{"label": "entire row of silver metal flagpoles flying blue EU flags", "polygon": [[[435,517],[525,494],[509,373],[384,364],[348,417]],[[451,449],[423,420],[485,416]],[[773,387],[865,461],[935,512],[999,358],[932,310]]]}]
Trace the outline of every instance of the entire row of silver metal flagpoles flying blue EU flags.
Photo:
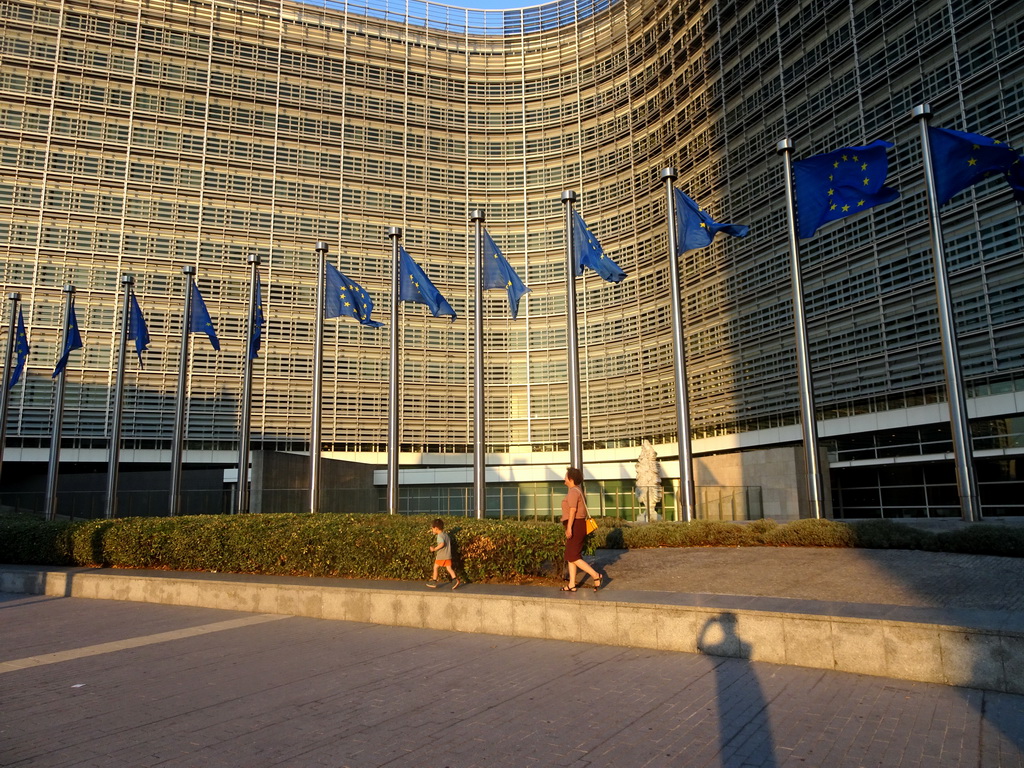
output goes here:
[{"label": "entire row of silver metal flagpoles flying blue EU flags", "polygon": [[[940,333],[943,361],[946,374],[950,424],[953,433],[953,449],[956,464],[957,486],[961,496],[963,516],[966,520],[980,517],[977,482],[974,477],[971,454],[970,427],[967,421],[966,400],[959,373],[953,328],[952,304],[946,278],[945,258],[942,249],[942,229],[939,209],[957,193],[975,184],[982,178],[1002,175],[1018,201],[1024,202],[1024,163],[1021,157],[1008,145],[994,139],[974,133],[934,128],[928,125],[931,110],[927,104],[914,108],[913,116],[919,119],[926,177],[926,189],[930,208],[930,228],[936,270],[936,290],[939,303]],[[885,185],[888,175],[886,150],[892,144],[874,141],[866,146],[850,146],[818,155],[805,160],[792,161],[793,143],[783,139],[778,144],[779,154],[784,156],[786,210],[788,214],[788,242],[792,265],[794,299],[794,325],[797,341],[797,367],[800,386],[800,412],[804,434],[805,464],[807,473],[807,499],[813,516],[822,514],[823,483],[818,454],[816,410],[811,383],[811,367],[807,341],[807,321],[804,310],[803,289],[800,276],[800,241],[811,238],[815,232],[833,221],[837,221],[861,211],[896,200],[899,193]],[[675,357],[675,387],[677,392],[676,418],[680,460],[680,493],[676,495],[677,519],[691,520],[696,515],[694,481],[692,473],[692,453],[690,446],[689,408],[686,386],[684,328],[682,319],[681,288],[679,282],[679,256],[681,253],[701,248],[712,243],[718,232],[733,237],[745,237],[748,227],[742,224],[728,224],[715,221],[707,210],[675,187],[676,173],[672,168],[662,172],[667,188],[669,269],[672,289],[673,352]],[[609,259],[574,210],[577,196],[573,191],[562,194],[565,206],[566,238],[566,321],[569,387],[569,464],[583,467],[582,408],[580,396],[579,333],[577,327],[575,276],[585,268],[595,271],[603,280],[617,283],[627,275]],[[798,216],[799,212],[799,216]],[[483,425],[483,314],[482,292],[490,289],[505,289],[508,293],[509,310],[513,318],[518,315],[519,301],[529,289],[505,259],[498,245],[483,227],[482,210],[471,213],[474,223],[474,256],[476,262],[474,279],[474,503],[476,516],[485,513],[484,482],[484,425]],[[390,383],[389,419],[387,437],[387,511],[398,511],[398,443],[399,412],[401,402],[398,372],[398,303],[415,302],[424,304],[435,317],[446,316],[455,321],[456,312],[426,272],[401,247],[400,227],[388,227],[387,237],[392,243],[392,295],[397,297],[391,304],[390,325]],[[321,408],[323,376],[324,319],[347,316],[369,328],[380,328],[383,324],[373,319],[373,300],[354,281],[344,275],[327,261],[328,246],[316,244],[317,281],[316,327],[313,360],[313,413],[310,434],[309,468],[309,511],[319,510],[319,445]],[[259,278],[259,257],[249,257],[251,269],[249,310],[246,330],[248,354],[245,356],[241,428],[239,435],[239,483],[236,511],[249,509],[248,471],[250,451],[250,400],[252,387],[252,361],[258,357],[262,328],[265,324],[262,308],[262,291]],[[171,449],[171,515],[181,511],[181,467],[185,424],[185,388],[188,374],[188,344],[193,333],[205,333],[215,350],[220,343],[207,310],[206,303],[196,285],[195,266],[185,266],[182,273],[186,279],[184,290],[184,312],[187,318],[182,324],[181,355],[178,370],[178,390],[175,409],[174,434]],[[121,403],[124,388],[126,342],[134,340],[135,351],[142,364],[142,352],[150,343],[145,321],[135,297],[131,275],[122,275],[124,299],[121,313],[120,345],[117,354],[117,378],[112,418],[112,437],[109,453],[106,509],[108,517],[117,512],[117,480],[121,432]],[[65,325],[60,343],[60,356],[53,370],[55,399],[53,414],[53,434],[50,443],[50,458],[47,475],[46,514],[52,519],[56,513],[56,483],[60,442],[60,425],[63,410],[63,377],[69,355],[83,346],[81,333],[75,317],[73,286],[65,286]],[[25,319],[18,307],[19,295],[12,293],[11,313],[4,358],[4,381],[6,386],[0,392],[0,470],[4,436],[8,392],[18,382],[29,356],[30,346]],[[13,359],[12,359],[13,358]]]}]

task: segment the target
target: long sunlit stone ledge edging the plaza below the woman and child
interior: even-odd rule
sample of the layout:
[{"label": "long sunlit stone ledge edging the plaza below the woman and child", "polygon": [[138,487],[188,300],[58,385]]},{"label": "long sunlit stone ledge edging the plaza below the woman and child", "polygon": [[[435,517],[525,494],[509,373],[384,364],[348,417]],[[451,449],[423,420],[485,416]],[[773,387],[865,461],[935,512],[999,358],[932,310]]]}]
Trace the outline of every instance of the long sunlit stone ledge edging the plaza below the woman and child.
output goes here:
[{"label": "long sunlit stone ledge edging the plaza below the woman and child", "polygon": [[845,604],[820,613],[779,610],[779,599],[761,601],[774,608],[761,610],[750,598],[732,607],[722,596],[678,604],[669,593],[616,600],[614,593],[494,586],[434,592],[409,583],[2,565],[0,591],[697,652],[1024,693],[1024,630],[1001,626],[998,616],[965,626],[941,611],[901,621],[865,616],[862,605],[846,614]]}]

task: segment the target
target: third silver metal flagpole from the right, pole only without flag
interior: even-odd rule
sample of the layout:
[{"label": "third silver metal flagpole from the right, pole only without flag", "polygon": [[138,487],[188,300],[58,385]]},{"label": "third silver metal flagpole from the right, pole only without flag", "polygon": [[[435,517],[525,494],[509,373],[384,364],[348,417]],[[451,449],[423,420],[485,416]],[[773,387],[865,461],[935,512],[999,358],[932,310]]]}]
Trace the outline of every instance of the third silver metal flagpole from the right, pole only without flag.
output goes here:
[{"label": "third silver metal flagpole from the right, pole only without flag", "polygon": [[[683,300],[679,284],[679,233],[676,231],[676,196],[673,182],[676,169],[662,171],[669,215],[669,284],[672,287],[672,353],[676,359],[676,434],[679,439],[679,489],[676,495],[676,519],[689,522],[696,518],[697,502],[693,479],[693,446],[690,435],[689,392],[686,387],[686,347],[683,343]],[[648,512],[650,511],[648,507]]]}]

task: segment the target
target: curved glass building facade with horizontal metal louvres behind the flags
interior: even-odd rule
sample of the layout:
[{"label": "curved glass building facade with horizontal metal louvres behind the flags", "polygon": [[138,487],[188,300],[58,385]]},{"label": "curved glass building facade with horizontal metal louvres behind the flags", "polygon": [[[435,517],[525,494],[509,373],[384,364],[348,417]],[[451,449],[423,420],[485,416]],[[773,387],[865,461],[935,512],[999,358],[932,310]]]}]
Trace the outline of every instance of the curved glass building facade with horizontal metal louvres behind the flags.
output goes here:
[{"label": "curved glass building facade with horizontal metal louvres behind the flags", "polygon": [[[609,479],[644,439],[671,459],[669,166],[717,219],[751,227],[683,256],[694,452],[791,444],[799,402],[775,145],[788,137],[800,158],[884,138],[896,145],[900,200],[802,249],[834,506],[949,514],[948,492],[927,495],[928,473],[951,463],[909,112],[928,101],[935,125],[1024,147],[1019,2],[560,0],[474,11],[2,0],[0,30],[0,288],[20,293],[32,343],[11,392],[7,462],[45,461],[65,284],[77,289],[85,341],[67,377],[65,458],[102,461],[122,273],[135,275],[153,338],[144,369],[129,365],[125,458],[166,461],[190,264],[222,346],[194,341],[186,458],[229,466],[251,253],[267,318],[253,446],[308,450],[315,243],[387,321],[388,226],[402,227],[459,315],[402,304],[402,451],[421,465],[471,452],[469,215],[482,209],[532,289],[517,321],[503,293],[486,294],[486,445],[513,457],[500,462],[564,466],[565,189],[629,274],[579,283],[585,451]],[[1014,457],[1024,451],[1021,221],[994,180],[943,209],[988,514],[1020,513],[1006,500],[1020,498]],[[328,322],[326,452],[383,461],[388,378],[386,330]]]}]

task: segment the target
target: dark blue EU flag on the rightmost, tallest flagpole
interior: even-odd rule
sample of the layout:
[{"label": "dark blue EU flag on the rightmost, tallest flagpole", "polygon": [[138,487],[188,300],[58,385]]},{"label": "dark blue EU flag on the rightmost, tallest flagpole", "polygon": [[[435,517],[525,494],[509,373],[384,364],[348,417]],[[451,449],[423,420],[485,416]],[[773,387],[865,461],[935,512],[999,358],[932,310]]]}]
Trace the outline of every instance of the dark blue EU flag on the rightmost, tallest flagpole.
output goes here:
[{"label": "dark blue EU flag on the rightmost, tallest flagpole", "polygon": [[928,141],[940,206],[990,173],[1008,173],[1017,160],[1017,153],[1009,146],[979,133],[928,126]]}]

